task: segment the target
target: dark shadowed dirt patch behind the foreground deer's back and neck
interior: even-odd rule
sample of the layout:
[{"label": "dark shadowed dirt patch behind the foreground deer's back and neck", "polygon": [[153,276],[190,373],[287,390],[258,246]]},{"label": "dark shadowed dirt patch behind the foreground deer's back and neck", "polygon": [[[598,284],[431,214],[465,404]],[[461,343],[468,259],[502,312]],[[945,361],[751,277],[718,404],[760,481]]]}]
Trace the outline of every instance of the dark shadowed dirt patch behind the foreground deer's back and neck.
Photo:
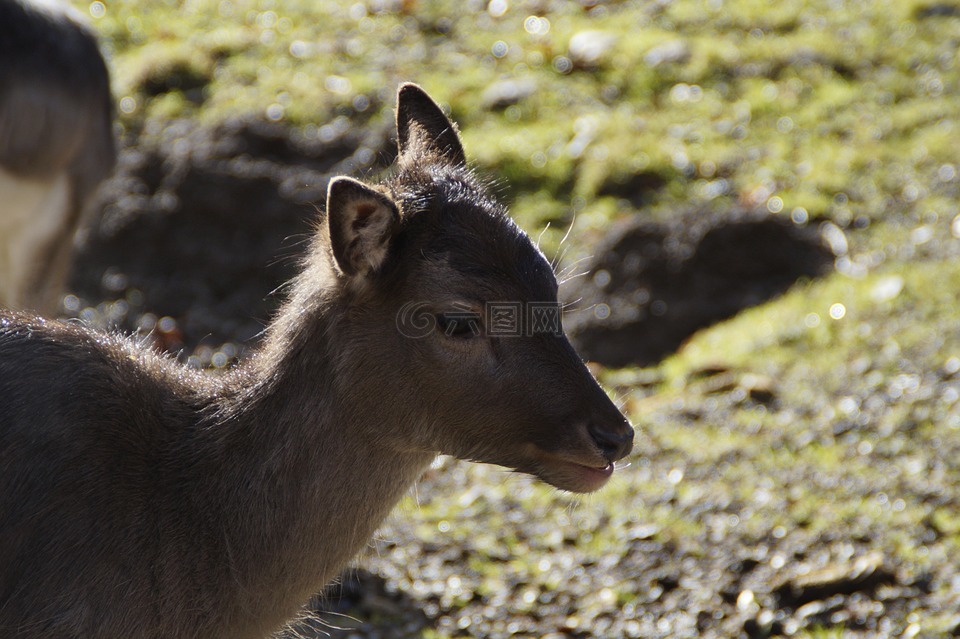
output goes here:
[{"label": "dark shadowed dirt patch behind the foreground deer's back and neck", "polygon": [[216,349],[235,358],[296,272],[329,179],[392,153],[385,132],[314,133],[184,121],[126,149],[76,255],[67,314],[151,334],[201,365]]}]

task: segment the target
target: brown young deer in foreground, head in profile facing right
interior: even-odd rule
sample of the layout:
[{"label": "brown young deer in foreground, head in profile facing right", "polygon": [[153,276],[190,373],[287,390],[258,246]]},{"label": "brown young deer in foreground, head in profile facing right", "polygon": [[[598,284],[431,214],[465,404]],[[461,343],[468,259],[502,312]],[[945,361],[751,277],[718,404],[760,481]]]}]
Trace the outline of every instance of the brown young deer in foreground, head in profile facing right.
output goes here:
[{"label": "brown young deer in foreground, head in profile facing right", "polygon": [[550,263],[423,89],[399,87],[396,123],[389,174],[330,180],[225,373],[0,313],[0,636],[268,636],[441,453],[573,493],[610,480],[633,429],[562,326],[520,313],[501,335],[483,310],[556,304]]}]

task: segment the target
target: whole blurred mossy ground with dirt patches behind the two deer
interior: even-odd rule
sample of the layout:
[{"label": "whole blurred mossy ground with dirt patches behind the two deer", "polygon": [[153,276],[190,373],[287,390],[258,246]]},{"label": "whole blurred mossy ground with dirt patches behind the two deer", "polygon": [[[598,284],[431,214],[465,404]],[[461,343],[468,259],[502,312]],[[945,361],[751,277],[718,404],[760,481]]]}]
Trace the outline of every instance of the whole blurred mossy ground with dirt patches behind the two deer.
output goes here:
[{"label": "whole blurred mossy ground with dirt patches behind the two deer", "polygon": [[74,2],[121,140],[61,314],[242,359],[421,84],[637,426],[441,459],[291,636],[960,636],[956,0]]}]

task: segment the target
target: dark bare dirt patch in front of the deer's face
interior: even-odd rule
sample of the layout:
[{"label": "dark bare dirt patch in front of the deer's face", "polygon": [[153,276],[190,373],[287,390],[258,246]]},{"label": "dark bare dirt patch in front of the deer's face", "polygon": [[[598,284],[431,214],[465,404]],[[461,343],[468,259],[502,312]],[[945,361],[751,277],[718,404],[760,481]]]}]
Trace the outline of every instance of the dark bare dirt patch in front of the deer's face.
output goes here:
[{"label": "dark bare dirt patch in front of the deer's face", "polygon": [[669,223],[615,227],[585,275],[564,287],[568,331],[584,357],[649,365],[701,328],[829,269],[815,229],[739,209],[696,210]]}]

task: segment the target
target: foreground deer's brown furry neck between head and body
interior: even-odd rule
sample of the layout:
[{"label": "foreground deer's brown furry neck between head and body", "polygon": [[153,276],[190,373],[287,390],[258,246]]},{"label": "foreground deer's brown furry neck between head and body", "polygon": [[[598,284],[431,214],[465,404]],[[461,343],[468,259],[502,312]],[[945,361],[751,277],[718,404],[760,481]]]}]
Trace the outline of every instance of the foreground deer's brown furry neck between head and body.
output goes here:
[{"label": "foreground deer's brown furry neck between head and body", "polygon": [[434,458],[371,435],[402,425],[338,379],[342,313],[297,295],[233,378],[218,443],[233,577],[264,608],[280,592],[299,605],[335,577]]}]

